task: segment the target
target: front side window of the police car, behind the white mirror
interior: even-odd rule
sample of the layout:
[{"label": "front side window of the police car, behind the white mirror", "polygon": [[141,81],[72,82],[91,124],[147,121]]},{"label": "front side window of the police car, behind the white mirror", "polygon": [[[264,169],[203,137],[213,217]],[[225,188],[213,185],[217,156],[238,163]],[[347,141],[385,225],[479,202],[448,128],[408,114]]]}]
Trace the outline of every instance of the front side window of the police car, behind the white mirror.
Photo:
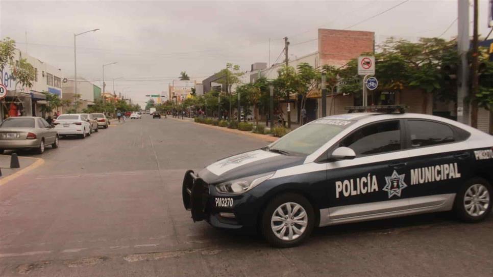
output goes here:
[{"label": "front side window of the police car, behind the white mirror", "polygon": [[361,127],[340,143],[356,152],[356,156],[380,154],[401,149],[399,120]]}]

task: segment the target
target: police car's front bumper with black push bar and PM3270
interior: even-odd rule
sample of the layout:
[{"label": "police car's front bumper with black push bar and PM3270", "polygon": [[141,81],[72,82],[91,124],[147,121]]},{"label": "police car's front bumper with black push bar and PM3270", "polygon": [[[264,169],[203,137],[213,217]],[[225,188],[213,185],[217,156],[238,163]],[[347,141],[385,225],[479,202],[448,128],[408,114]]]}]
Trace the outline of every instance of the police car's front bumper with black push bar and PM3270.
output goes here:
[{"label": "police car's front bumper with black push bar and PM3270", "polygon": [[223,229],[256,226],[260,201],[248,192],[241,195],[220,193],[189,170],[183,179],[182,197],[193,221],[206,220]]}]

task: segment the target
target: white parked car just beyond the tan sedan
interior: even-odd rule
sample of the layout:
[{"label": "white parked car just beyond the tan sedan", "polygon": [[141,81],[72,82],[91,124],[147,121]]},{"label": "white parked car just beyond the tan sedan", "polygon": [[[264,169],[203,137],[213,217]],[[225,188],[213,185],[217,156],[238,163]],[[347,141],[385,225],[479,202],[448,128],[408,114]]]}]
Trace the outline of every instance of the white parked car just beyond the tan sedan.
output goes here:
[{"label": "white parked car just beyond the tan sedan", "polygon": [[58,135],[79,135],[85,138],[86,135],[91,135],[91,124],[87,122],[87,115],[83,114],[63,114],[53,122]]}]

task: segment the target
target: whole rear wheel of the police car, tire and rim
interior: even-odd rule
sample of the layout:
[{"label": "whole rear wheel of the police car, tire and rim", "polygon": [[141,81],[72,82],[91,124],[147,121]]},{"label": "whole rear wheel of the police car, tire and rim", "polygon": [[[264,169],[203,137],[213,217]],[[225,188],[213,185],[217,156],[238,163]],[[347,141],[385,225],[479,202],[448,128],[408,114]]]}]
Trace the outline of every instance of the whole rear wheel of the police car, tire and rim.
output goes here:
[{"label": "whole rear wheel of the police car, tire and rim", "polygon": [[468,180],[460,187],[455,198],[457,217],[470,223],[484,220],[491,212],[491,191],[491,185],[483,178]]}]

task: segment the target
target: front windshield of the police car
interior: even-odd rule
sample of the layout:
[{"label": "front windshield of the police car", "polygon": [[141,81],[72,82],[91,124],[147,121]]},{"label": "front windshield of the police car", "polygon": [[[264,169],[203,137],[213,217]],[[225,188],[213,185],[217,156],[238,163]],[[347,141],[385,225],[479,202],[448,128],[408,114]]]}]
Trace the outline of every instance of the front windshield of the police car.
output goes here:
[{"label": "front windshield of the police car", "polygon": [[310,155],[353,123],[351,120],[317,120],[289,132],[269,150],[293,155]]}]

